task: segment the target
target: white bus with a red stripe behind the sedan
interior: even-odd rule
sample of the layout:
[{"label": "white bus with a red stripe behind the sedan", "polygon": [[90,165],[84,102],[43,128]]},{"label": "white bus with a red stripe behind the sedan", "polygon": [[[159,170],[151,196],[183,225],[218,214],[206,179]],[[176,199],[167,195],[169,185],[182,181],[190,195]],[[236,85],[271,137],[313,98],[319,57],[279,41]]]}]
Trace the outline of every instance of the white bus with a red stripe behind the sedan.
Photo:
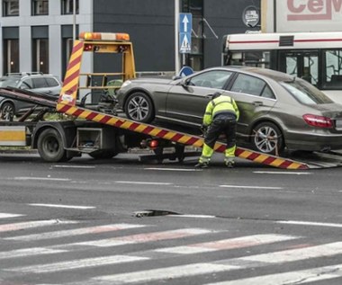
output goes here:
[{"label": "white bus with a red stripe behind the sedan", "polygon": [[342,32],[223,37],[222,65],[266,67],[302,77],[342,103]]}]

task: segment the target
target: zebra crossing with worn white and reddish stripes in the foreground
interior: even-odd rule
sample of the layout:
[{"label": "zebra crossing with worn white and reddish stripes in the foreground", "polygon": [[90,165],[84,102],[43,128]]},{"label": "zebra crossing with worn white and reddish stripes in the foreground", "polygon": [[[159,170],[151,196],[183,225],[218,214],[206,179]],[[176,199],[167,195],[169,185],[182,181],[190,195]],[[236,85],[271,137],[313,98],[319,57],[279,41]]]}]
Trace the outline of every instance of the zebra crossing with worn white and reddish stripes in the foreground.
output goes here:
[{"label": "zebra crossing with worn white and reddish stripes in the foreground", "polygon": [[[150,224],[87,225],[61,219],[17,221],[20,217],[0,213],[0,285],[342,283],[339,241],[314,244],[305,236],[277,233],[237,236],[202,227],[159,228],[151,219],[143,220]],[[263,250],[253,250],[258,247]],[[327,258],[334,263],[325,263]],[[290,266],[311,260],[314,265],[302,269]],[[284,266],[290,269],[284,271]],[[273,271],[267,272],[268,267]],[[250,273],[230,277],[229,272],[238,271]],[[218,275],[219,281],[213,277]]]}]

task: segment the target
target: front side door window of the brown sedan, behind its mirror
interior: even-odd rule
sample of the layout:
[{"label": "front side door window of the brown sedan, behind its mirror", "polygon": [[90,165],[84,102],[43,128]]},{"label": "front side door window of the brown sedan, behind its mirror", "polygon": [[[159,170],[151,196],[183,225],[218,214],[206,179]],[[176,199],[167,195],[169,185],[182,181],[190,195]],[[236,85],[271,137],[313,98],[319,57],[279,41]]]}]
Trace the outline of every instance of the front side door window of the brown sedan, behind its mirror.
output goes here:
[{"label": "front side door window of the brown sedan, behind its mirror", "polygon": [[231,76],[230,71],[214,70],[202,73],[198,76],[193,76],[189,85],[202,86],[208,88],[224,89],[228,79]]}]

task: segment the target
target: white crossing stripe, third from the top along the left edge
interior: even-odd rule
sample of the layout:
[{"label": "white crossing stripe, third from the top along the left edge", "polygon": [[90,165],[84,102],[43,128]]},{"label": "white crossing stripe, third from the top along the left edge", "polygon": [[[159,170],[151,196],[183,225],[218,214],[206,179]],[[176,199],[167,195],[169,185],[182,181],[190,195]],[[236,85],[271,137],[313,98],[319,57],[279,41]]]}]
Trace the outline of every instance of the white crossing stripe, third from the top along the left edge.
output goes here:
[{"label": "white crossing stripe, third from the top along the left edge", "polygon": [[[5,237],[5,240],[22,240],[22,241],[37,241],[44,240],[49,238],[58,238],[65,236],[81,236],[85,234],[97,234],[97,233],[105,233],[116,230],[128,229],[128,228],[136,228],[136,227],[146,227],[143,225],[130,225],[130,224],[113,224],[113,225],[104,225],[97,227],[82,227],[76,229],[66,229],[60,231],[47,232],[42,234],[33,234],[26,236],[13,236],[13,237]],[[1,228],[1,227],[0,227]]]}]

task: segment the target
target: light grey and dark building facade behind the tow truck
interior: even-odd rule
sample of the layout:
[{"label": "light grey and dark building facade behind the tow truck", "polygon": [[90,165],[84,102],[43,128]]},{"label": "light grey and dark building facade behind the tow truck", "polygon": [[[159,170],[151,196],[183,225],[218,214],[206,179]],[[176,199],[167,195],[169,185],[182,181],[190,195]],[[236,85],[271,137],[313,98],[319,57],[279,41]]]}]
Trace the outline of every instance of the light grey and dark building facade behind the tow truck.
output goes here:
[{"label": "light grey and dark building facade behind the tow truck", "polygon": [[[138,71],[174,71],[175,1],[2,0],[0,74],[37,71],[62,79],[79,31],[128,32]],[[182,64],[195,70],[220,65],[224,34],[260,30],[244,22],[251,6],[260,10],[260,0],[179,0],[179,12],[193,14],[192,46]],[[82,67],[112,71],[105,58],[92,56]]]}]

